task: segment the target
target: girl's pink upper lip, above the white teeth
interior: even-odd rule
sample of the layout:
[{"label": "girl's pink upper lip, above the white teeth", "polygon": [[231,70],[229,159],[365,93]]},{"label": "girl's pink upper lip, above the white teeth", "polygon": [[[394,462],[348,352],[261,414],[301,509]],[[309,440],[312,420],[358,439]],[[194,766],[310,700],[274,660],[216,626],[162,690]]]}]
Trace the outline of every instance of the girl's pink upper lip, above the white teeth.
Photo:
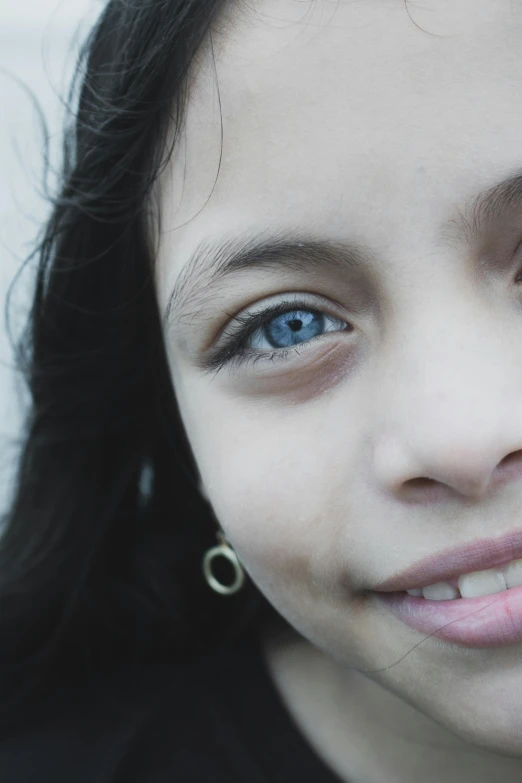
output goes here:
[{"label": "girl's pink upper lip, above the white teeth", "polygon": [[405,571],[386,579],[373,590],[381,593],[414,590],[519,558],[522,558],[522,530],[512,530],[503,536],[481,538],[445,549],[436,555],[428,555]]}]

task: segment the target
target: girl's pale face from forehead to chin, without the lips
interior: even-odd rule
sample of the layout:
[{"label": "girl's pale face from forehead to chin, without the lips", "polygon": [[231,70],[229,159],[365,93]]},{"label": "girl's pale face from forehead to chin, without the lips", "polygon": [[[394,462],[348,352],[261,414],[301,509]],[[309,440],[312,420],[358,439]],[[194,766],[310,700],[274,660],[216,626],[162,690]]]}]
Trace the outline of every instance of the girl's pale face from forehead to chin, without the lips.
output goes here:
[{"label": "girl's pale face from forehead to chin, without the lips", "polygon": [[157,259],[202,488],[302,636],[522,756],[522,642],[429,636],[375,592],[522,529],[522,10],[262,0],[212,38]]}]

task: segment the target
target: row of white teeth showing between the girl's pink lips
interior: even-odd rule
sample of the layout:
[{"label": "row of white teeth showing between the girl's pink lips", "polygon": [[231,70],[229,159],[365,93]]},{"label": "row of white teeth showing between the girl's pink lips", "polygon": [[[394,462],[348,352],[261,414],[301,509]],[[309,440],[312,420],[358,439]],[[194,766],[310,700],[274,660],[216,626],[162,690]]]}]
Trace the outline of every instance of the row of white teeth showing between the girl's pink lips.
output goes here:
[{"label": "row of white teeth showing between the girl's pink lips", "polygon": [[451,601],[459,597],[478,598],[483,595],[494,595],[518,585],[522,585],[522,559],[512,560],[505,566],[463,574],[458,578],[458,588],[447,582],[437,582],[422,589],[406,590],[406,592],[432,601]]}]

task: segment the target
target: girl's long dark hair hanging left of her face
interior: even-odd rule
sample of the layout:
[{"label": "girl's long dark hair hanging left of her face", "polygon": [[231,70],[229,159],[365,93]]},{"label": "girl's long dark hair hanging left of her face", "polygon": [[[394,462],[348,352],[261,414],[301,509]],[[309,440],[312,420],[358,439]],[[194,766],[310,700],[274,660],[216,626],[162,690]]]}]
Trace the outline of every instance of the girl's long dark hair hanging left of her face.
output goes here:
[{"label": "girl's long dark hair hanging left of her face", "polygon": [[110,0],[80,53],[15,347],[30,408],[0,540],[6,709],[88,674],[187,661],[275,612],[250,580],[222,597],[202,575],[217,524],[172,388],[145,214],[221,6]]}]

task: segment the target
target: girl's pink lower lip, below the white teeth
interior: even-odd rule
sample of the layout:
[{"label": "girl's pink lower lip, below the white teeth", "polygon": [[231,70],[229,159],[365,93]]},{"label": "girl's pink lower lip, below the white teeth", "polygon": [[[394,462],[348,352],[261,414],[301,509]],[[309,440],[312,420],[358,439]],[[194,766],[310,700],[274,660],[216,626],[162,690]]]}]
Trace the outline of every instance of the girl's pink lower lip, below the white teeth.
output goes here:
[{"label": "girl's pink lower lip, below the white teeth", "polygon": [[462,647],[501,647],[522,641],[522,585],[452,601],[430,601],[408,593],[374,595],[411,628]]}]

